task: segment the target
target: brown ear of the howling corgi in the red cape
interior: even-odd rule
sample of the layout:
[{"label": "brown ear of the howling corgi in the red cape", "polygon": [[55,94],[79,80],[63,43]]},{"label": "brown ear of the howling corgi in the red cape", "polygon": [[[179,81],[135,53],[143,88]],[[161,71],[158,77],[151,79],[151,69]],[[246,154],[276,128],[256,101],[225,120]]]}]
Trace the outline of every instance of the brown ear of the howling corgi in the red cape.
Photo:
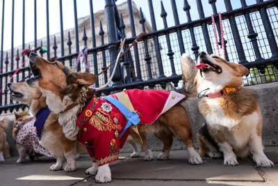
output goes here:
[{"label": "brown ear of the howling corgi in the red cape", "polygon": [[70,83],[79,85],[92,85],[97,81],[97,76],[88,72],[76,72],[68,77]]}]

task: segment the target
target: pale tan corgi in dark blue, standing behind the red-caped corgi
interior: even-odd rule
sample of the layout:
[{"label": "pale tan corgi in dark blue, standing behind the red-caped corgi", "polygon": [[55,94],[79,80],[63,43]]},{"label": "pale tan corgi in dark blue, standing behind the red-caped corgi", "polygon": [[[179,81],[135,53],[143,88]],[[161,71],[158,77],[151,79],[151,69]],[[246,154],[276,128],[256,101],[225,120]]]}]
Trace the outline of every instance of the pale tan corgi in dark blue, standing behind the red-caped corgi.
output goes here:
[{"label": "pale tan corgi in dark blue, standing behind the red-caped corgi", "polygon": [[[47,109],[46,98],[38,88],[29,87],[26,82],[8,83],[10,89],[10,98],[22,102],[22,104],[30,104],[29,112],[31,116],[36,116],[35,121],[39,121],[42,125],[37,127],[38,137],[40,135],[40,144],[56,157],[56,164],[50,166],[51,171],[63,169],[63,164],[67,162],[64,171],[76,170],[77,153],[85,152],[85,146],[76,144],[76,141],[67,139],[63,134],[63,128],[58,123],[58,114],[53,112],[41,115]],[[34,124],[35,126],[35,124]]]}]

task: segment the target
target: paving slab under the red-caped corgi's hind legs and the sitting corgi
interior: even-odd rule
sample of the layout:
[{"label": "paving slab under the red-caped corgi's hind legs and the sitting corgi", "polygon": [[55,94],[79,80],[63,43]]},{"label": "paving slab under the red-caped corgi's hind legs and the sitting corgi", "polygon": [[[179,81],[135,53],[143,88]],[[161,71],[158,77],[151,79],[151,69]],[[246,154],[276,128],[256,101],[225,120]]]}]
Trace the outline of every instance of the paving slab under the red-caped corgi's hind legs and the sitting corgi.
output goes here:
[{"label": "paving slab under the red-caped corgi's hind legs and the sitting corgi", "polygon": [[212,160],[207,157],[203,160],[202,165],[188,164],[186,150],[171,151],[170,160],[166,161],[144,162],[142,157],[129,158],[112,168],[112,177],[129,180],[263,181],[249,160],[239,160],[238,166],[224,166],[223,160]]}]

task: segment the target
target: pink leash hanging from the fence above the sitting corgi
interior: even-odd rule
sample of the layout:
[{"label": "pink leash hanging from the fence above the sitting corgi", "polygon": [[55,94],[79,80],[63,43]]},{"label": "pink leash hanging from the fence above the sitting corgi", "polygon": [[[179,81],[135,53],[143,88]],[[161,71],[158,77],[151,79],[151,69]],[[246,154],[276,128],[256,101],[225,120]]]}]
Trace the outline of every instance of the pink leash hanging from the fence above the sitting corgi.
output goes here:
[{"label": "pink leash hanging from the fence above the sitting corgi", "polygon": [[[220,39],[221,39],[221,47],[222,47],[222,57],[223,59],[225,58],[225,45],[224,45],[224,31],[223,31],[223,25],[222,25],[222,15],[221,13],[218,13],[219,16],[219,23],[220,23]],[[214,15],[211,15],[211,20],[213,22],[213,32],[214,32],[214,37],[215,37],[215,43],[216,43],[216,49],[218,52],[218,56],[220,56],[220,49],[219,49],[219,45],[218,45],[218,34],[216,31],[216,26],[215,26],[215,19],[214,19]]]}]

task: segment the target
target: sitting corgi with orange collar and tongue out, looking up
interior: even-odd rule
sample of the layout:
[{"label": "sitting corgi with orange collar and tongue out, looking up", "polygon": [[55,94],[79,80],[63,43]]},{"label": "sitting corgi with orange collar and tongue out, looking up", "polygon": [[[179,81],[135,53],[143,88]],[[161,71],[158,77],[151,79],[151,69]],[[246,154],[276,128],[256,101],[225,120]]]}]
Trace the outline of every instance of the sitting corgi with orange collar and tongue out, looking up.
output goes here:
[{"label": "sitting corgi with orange collar and tongue out, looking up", "polygon": [[[195,63],[192,59],[183,65]],[[199,111],[205,124],[197,134],[199,155],[224,157],[224,165],[238,165],[237,157],[252,153],[256,166],[273,166],[263,153],[261,130],[263,118],[256,94],[243,86],[243,76],[249,70],[220,56],[200,52],[195,74]],[[183,72],[183,76],[186,72]]]}]

